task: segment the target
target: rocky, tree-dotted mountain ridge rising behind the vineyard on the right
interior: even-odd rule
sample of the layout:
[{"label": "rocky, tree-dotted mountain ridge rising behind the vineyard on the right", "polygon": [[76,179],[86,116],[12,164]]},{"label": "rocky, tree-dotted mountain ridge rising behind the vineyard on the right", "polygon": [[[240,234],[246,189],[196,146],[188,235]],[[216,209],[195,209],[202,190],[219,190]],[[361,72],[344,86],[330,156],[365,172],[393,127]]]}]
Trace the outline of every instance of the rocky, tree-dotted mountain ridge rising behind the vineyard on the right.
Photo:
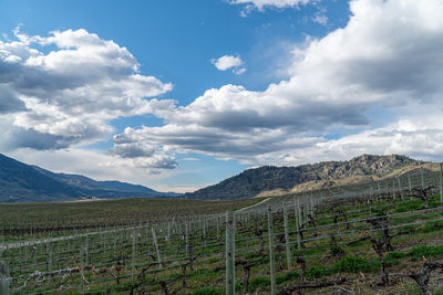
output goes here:
[{"label": "rocky, tree-dotted mountain ridge rising behind the vineyard on the right", "polygon": [[298,167],[264,166],[247,169],[217,185],[185,193],[186,199],[240,199],[251,198],[272,190],[289,191],[302,183],[344,179],[380,178],[406,166],[424,161],[405,156],[362,155],[348,161],[326,161]]}]

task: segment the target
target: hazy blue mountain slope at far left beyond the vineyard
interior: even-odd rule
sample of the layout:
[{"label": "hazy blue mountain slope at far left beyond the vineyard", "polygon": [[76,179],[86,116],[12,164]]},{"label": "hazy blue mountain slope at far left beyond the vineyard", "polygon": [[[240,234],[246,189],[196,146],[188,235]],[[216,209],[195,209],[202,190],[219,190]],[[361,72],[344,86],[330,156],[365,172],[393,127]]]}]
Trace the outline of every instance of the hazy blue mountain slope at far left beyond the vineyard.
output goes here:
[{"label": "hazy blue mountain slope at far left beyond the vineyard", "polygon": [[54,173],[0,154],[0,202],[64,201],[80,198],[177,197],[174,192],[120,181],[96,181],[79,175]]}]

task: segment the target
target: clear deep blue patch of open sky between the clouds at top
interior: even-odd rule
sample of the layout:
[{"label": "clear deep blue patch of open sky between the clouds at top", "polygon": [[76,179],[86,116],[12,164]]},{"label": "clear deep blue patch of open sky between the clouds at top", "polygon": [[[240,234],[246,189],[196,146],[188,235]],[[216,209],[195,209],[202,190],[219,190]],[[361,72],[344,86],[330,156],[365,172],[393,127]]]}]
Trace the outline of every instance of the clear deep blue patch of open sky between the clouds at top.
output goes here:
[{"label": "clear deep blue patch of open sky between the clouds at top", "polygon": [[[302,9],[270,9],[241,18],[241,7],[224,0],[200,1],[2,1],[0,29],[11,34],[22,25],[29,35],[45,35],[54,30],[85,29],[105,40],[126,46],[142,64],[142,72],[174,83],[166,94],[181,105],[212,87],[238,83],[262,89],[278,82],[270,73],[260,75],[277,60],[279,44],[302,42],[306,35],[322,36],[344,25],[347,1],[324,1]],[[319,24],[311,20],[320,9],[331,20]],[[218,72],[210,60],[240,54],[253,73],[233,75]],[[269,59],[270,57],[270,59]],[[278,65],[275,65],[278,66]],[[269,69],[268,69],[269,70]]]}]

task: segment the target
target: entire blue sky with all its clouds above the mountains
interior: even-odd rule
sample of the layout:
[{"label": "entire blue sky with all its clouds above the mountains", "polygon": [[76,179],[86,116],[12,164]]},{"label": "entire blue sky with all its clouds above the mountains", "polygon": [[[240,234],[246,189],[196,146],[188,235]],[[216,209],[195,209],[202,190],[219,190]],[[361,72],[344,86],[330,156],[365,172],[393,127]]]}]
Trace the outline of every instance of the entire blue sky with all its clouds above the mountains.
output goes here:
[{"label": "entire blue sky with all its clouds above the mountains", "polygon": [[193,191],[245,169],[443,160],[441,0],[0,0],[0,152]]}]

